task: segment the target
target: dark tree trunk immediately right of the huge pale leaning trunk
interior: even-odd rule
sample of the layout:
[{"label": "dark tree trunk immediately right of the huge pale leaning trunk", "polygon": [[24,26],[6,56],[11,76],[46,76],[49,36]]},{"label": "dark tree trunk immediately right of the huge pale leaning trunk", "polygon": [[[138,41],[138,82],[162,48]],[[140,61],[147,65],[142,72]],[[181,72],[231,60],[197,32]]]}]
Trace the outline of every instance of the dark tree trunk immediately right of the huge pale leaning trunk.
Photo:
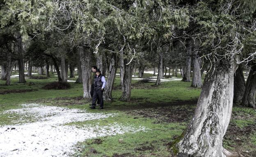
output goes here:
[{"label": "dark tree trunk immediately right of the huge pale leaning trunk", "polygon": [[242,72],[242,65],[238,66],[234,76],[234,99],[235,104],[241,104],[245,93],[245,77]]}]

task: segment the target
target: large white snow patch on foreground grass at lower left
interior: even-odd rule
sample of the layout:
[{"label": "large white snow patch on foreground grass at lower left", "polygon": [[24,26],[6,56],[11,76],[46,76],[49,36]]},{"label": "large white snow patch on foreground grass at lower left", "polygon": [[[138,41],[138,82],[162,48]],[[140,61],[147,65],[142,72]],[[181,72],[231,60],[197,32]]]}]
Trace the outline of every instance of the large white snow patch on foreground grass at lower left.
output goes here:
[{"label": "large white snow patch on foreground grass at lower left", "polygon": [[[88,113],[39,104],[24,104],[23,108],[4,111],[2,114],[12,113],[20,115],[21,123],[0,127],[0,157],[69,157],[75,153],[75,144],[86,139],[145,131],[144,127],[135,128],[117,123],[111,126],[64,125],[117,114]],[[27,117],[32,117],[32,123],[23,123]]]}]

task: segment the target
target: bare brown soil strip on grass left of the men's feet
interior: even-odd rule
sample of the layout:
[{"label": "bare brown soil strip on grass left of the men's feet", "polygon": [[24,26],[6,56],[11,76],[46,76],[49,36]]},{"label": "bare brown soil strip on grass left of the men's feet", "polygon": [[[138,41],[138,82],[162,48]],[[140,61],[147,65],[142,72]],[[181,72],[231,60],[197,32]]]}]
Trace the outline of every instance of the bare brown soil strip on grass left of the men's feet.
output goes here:
[{"label": "bare brown soil strip on grass left of the men's feet", "polygon": [[58,106],[68,106],[68,105],[84,105],[91,102],[91,98],[83,98],[80,97],[57,97],[57,98],[50,98],[50,99],[41,99],[32,101],[35,103],[51,103]]}]

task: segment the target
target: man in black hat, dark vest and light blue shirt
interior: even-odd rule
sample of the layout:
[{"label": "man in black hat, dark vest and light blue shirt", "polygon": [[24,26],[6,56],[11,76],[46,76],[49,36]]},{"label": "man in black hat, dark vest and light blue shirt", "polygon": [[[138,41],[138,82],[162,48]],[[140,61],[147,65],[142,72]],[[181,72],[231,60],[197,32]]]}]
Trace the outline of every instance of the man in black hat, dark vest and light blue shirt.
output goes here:
[{"label": "man in black hat, dark vest and light blue shirt", "polygon": [[91,102],[91,109],[95,109],[96,100],[99,98],[100,107],[98,109],[103,109],[103,90],[106,86],[106,80],[103,75],[101,75],[100,69],[96,69],[96,76],[94,77],[94,92]]}]

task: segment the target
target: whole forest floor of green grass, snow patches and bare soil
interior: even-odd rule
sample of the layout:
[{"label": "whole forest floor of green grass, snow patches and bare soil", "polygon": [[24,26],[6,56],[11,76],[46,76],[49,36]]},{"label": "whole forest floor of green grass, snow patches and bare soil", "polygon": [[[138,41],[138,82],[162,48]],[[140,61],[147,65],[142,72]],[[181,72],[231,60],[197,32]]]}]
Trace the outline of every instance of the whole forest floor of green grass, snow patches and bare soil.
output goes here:
[{"label": "whole forest floor of green grass, snow patches and bare soil", "polygon": [[[82,84],[69,82],[67,90],[42,89],[57,80],[54,75],[25,84],[12,78],[11,86],[0,81],[1,157],[175,157],[172,143],[193,116],[201,92],[190,82],[155,86],[132,80],[131,101],[121,102],[117,76],[114,100],[104,102],[103,110],[89,110],[91,99],[82,98]],[[223,146],[233,157],[255,157],[255,109],[233,106]]]}]

